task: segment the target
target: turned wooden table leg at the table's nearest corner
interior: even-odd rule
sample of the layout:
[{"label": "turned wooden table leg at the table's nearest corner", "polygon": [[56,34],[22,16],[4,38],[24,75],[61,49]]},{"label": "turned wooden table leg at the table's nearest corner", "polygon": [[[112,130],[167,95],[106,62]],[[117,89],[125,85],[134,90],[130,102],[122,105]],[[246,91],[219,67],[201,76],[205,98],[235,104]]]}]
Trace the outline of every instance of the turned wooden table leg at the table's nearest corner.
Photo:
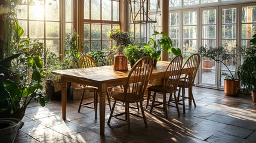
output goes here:
[{"label": "turned wooden table leg at the table's nearest corner", "polygon": [[107,84],[102,83],[100,88],[100,135],[105,132],[105,110],[106,110],[106,93]]}]

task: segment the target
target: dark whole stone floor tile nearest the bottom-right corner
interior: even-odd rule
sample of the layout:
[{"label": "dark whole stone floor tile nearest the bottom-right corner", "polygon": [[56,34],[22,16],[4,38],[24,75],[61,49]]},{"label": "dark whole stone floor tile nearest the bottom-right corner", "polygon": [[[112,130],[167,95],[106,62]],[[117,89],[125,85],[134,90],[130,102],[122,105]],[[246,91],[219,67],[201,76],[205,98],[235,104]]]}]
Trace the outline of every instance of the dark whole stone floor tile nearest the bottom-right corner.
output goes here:
[{"label": "dark whole stone floor tile nearest the bottom-right corner", "polygon": [[254,130],[227,125],[226,128],[220,130],[220,132],[228,133],[230,135],[238,136],[240,138],[247,138],[249,135],[251,135],[252,132],[254,132]]}]

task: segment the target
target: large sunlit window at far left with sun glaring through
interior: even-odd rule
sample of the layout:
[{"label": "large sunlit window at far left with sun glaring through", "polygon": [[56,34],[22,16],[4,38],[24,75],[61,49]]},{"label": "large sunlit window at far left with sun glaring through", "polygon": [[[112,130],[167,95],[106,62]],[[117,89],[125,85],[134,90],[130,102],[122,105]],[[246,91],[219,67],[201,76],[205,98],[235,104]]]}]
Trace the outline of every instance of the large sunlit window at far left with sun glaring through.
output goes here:
[{"label": "large sunlit window at far left with sun glaring through", "polygon": [[58,0],[34,0],[20,5],[17,18],[27,38],[36,38],[45,47],[60,54],[60,2]]}]

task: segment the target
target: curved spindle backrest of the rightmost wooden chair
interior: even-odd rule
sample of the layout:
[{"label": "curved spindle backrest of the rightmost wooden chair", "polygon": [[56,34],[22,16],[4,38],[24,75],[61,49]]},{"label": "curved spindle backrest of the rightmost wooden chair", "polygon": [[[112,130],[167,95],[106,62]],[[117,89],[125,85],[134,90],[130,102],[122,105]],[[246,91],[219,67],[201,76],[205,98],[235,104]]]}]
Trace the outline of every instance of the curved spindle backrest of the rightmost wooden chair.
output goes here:
[{"label": "curved spindle backrest of the rightmost wooden chair", "polygon": [[201,62],[201,57],[199,54],[191,55],[186,63],[183,66],[183,69],[186,70],[185,78],[184,78],[184,85],[190,86],[194,85],[196,73],[198,72],[198,67]]}]

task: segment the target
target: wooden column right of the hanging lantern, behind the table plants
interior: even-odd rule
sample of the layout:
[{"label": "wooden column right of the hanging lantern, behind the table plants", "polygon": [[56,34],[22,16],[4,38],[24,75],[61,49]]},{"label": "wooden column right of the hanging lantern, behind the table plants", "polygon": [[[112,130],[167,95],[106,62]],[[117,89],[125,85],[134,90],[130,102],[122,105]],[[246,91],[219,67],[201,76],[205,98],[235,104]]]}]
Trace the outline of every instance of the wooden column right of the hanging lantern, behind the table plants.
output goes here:
[{"label": "wooden column right of the hanging lantern, behind the table plants", "polygon": [[[169,0],[161,1],[161,22],[162,22],[162,32],[169,35]],[[162,61],[168,61],[168,53],[162,50],[161,54]]]}]

